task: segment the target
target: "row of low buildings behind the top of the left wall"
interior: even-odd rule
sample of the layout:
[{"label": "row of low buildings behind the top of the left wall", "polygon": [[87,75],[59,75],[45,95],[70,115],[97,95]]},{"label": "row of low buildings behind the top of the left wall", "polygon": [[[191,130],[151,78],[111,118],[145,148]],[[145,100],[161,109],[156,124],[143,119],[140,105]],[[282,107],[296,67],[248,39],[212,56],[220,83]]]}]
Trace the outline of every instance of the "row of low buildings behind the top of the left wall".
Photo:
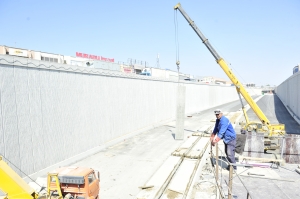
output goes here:
[{"label": "row of low buildings behind the top of the left wall", "polygon": [[[128,59],[127,62],[116,63],[114,58],[106,58],[103,56],[92,55],[82,52],[76,52],[76,56],[67,56],[54,53],[46,53],[35,50],[28,50],[16,47],[1,46],[0,54],[24,57],[45,62],[53,62],[58,64],[67,64],[78,67],[98,68],[102,70],[116,71],[132,75],[145,75],[154,78],[169,79],[173,81],[193,81],[205,84],[221,84],[232,85],[228,80],[213,76],[194,76],[191,74],[178,73],[169,69],[161,69],[150,67],[148,62],[136,59]],[[299,68],[299,67],[298,67]],[[299,69],[297,69],[298,71]]]}]

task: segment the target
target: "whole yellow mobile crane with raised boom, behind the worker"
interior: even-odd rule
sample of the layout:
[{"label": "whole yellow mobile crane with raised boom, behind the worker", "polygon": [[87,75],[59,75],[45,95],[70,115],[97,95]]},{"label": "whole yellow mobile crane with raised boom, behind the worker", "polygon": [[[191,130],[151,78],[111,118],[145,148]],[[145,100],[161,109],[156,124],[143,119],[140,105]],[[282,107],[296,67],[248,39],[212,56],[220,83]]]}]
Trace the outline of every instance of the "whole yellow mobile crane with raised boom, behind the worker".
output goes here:
[{"label": "whole yellow mobile crane with raised boom, behind the worker", "polygon": [[[259,108],[259,106],[255,103],[255,101],[251,98],[249,93],[246,91],[242,83],[237,79],[237,77],[233,74],[232,70],[228,67],[227,63],[224,61],[222,57],[216,52],[216,50],[211,46],[208,39],[202,34],[202,32],[198,29],[194,21],[187,15],[187,13],[183,10],[181,7],[181,4],[178,3],[175,7],[175,10],[179,10],[180,13],[183,15],[183,17],[187,20],[187,22],[190,24],[190,26],[193,28],[193,30],[196,32],[196,34],[200,37],[204,45],[207,47],[207,49],[211,52],[211,54],[216,59],[217,63],[221,66],[221,68],[224,70],[226,75],[229,77],[229,79],[232,81],[232,83],[236,86],[236,90],[238,92],[239,98],[241,100],[240,94],[245,98],[245,100],[248,102],[250,107],[253,109],[254,113],[257,115],[257,117],[260,119],[260,122],[249,122],[248,116],[246,114],[246,111],[244,109],[244,105],[242,103],[242,110],[245,116],[246,124],[242,126],[242,128],[246,131],[255,130],[256,132],[263,132],[266,133],[268,137],[274,137],[274,136],[283,136],[285,134],[285,126],[284,124],[270,124],[270,121],[265,116],[265,114],[262,112],[262,110]],[[271,147],[267,147],[266,149],[271,149]]]}]

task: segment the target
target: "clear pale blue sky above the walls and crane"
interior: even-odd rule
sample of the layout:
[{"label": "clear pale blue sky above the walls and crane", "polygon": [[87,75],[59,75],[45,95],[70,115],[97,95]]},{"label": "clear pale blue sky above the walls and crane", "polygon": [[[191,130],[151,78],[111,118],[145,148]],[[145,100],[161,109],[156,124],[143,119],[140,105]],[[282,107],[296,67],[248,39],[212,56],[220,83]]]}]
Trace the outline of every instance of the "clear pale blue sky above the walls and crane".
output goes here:
[{"label": "clear pale blue sky above the walls and crane", "polygon": [[[0,45],[128,58],[176,70],[178,1],[0,0]],[[181,1],[242,82],[279,85],[300,63],[299,0]],[[178,12],[180,71],[227,78]]]}]

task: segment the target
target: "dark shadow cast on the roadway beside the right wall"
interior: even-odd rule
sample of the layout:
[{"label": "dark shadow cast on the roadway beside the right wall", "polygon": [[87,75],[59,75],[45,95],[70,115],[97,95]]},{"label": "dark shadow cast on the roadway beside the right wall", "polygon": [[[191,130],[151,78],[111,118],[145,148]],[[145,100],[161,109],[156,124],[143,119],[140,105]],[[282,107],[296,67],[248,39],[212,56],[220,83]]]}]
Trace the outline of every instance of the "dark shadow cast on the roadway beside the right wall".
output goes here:
[{"label": "dark shadow cast on the roadway beside the right wall", "polygon": [[285,131],[287,134],[300,135],[300,125],[290,115],[284,104],[277,95],[274,96],[275,115],[279,123],[285,124]]}]

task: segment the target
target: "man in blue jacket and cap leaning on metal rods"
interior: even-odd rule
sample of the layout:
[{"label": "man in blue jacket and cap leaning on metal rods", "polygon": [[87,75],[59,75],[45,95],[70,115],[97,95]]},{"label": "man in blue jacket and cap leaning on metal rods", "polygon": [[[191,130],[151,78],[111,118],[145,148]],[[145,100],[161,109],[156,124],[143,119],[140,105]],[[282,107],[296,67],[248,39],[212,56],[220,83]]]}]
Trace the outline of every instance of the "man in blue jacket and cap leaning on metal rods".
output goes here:
[{"label": "man in blue jacket and cap leaning on metal rods", "polygon": [[[236,133],[229,121],[228,118],[223,116],[223,113],[220,109],[214,111],[216,115],[216,124],[214,131],[210,136],[211,145],[215,146],[217,142],[223,139],[225,144],[225,153],[227,156],[227,160],[230,163],[235,164],[235,145],[236,145]],[[236,166],[233,166],[236,170]],[[229,169],[229,166],[228,168]]]}]

